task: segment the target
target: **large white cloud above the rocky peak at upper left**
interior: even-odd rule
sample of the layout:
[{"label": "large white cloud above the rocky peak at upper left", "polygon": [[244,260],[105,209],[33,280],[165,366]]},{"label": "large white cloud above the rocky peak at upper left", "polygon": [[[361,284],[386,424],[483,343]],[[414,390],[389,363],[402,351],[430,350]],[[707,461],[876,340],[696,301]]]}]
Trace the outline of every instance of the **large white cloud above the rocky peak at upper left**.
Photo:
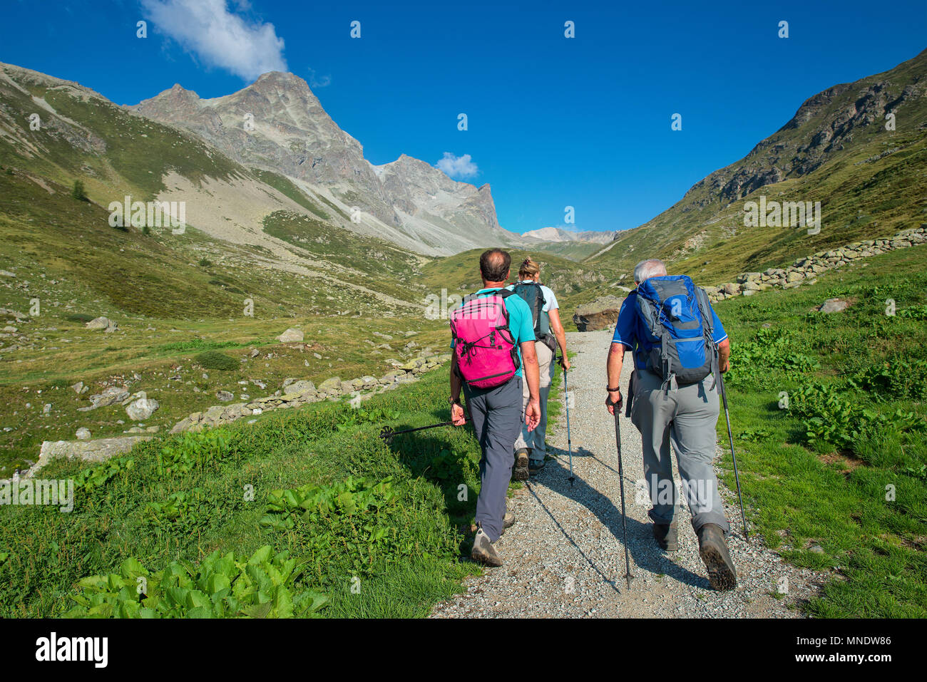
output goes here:
[{"label": "large white cloud above the rocky peak at upper left", "polygon": [[[247,0],[235,3],[247,10]],[[267,71],[286,71],[284,40],[271,23],[248,21],[225,0],[142,0],[146,19],[209,66],[247,81]]]}]

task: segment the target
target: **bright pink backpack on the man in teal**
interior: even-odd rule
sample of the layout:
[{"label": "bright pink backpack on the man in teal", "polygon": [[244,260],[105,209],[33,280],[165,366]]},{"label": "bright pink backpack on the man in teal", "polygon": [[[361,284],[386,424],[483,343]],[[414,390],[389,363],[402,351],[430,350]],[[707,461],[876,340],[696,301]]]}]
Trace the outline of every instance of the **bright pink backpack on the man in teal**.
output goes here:
[{"label": "bright pink backpack on the man in teal", "polygon": [[505,309],[508,289],[464,297],[464,305],[451,312],[451,336],[457,367],[472,388],[494,388],[518,371],[518,348],[509,330]]}]

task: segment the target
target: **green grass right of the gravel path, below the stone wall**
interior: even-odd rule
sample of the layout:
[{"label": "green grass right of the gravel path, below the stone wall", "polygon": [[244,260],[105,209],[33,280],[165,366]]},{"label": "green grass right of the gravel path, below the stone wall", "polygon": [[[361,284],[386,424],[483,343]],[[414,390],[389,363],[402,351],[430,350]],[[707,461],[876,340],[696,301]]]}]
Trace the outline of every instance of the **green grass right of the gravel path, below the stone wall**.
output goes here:
[{"label": "green grass right of the gravel path, below the stone wall", "polygon": [[[788,561],[832,572],[807,613],[927,616],[927,327],[885,314],[888,298],[918,311],[925,289],[927,248],[915,247],[717,304],[751,522]],[[853,305],[816,312],[828,297]],[[718,434],[726,442],[723,420]],[[730,455],[724,463],[734,489]]]}]

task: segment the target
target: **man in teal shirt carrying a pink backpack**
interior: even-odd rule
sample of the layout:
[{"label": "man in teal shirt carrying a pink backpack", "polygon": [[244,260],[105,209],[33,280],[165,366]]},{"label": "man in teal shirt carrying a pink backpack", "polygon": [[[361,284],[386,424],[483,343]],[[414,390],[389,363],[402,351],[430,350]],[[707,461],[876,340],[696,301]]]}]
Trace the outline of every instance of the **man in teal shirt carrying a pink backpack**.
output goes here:
[{"label": "man in teal shirt carrying a pink backpack", "polygon": [[[512,449],[521,433],[540,421],[538,356],[534,347],[531,310],[521,297],[505,289],[512,257],[499,248],[479,257],[483,288],[464,297],[451,312],[451,421],[466,423],[460,403],[461,388],[473,420],[482,458],[476,499],[476,537],[470,556],[490,566],[501,566],[495,548],[505,528],[514,524],[505,499],[512,479]],[[523,378],[524,372],[524,378]],[[522,384],[528,400],[523,408]]]}]

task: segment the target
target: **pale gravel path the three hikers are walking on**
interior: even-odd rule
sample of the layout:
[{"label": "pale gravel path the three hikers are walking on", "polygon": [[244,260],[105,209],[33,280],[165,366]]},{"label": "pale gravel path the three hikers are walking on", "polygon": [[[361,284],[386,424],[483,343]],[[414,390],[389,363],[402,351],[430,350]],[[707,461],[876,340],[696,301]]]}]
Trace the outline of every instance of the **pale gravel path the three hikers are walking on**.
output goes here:
[{"label": "pale gravel path the three hikers are walking on", "polygon": [[[577,352],[568,376],[574,399],[570,410],[574,486],[567,481],[564,412],[548,431],[553,446],[548,452],[555,459],[509,501],[517,521],[497,544],[505,563],[467,579],[467,591],[438,604],[432,616],[799,617],[796,603],[813,596],[826,576],[784,562],[756,536],[747,544],[736,492],[722,487],[732,530],[729,547],[737,567],[736,589],[716,592],[708,585],[687,509],[677,517],[679,550],[664,552],[656,547],[648,526],[649,503],[635,501],[636,482],[643,481],[641,435],[622,414],[634,576],[627,587],[615,422],[603,405],[604,361],[610,342],[610,332],[567,335],[568,347]],[[622,386],[628,385],[629,370],[630,362],[625,362]],[[786,593],[778,594],[786,579]]]}]

